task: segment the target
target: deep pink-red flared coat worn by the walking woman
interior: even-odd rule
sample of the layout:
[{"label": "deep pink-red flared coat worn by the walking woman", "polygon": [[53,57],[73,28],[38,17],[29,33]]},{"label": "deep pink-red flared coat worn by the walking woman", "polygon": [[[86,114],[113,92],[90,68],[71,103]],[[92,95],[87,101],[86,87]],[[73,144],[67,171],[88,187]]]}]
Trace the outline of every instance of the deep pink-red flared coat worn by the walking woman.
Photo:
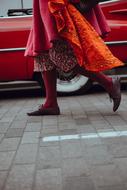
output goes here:
[{"label": "deep pink-red flared coat worn by the walking woman", "polygon": [[[99,5],[85,14],[85,17],[101,36],[110,31]],[[51,41],[58,38],[55,20],[48,10],[48,0],[33,0],[33,25],[25,56],[42,54],[52,47]]]}]

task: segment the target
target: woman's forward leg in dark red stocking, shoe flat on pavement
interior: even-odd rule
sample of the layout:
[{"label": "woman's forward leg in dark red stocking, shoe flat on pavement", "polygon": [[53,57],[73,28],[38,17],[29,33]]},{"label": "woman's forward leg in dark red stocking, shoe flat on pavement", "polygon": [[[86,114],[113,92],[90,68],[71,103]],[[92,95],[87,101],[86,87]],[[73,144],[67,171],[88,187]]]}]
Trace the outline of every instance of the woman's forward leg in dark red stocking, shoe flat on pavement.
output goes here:
[{"label": "woman's forward leg in dark red stocking, shoe flat on pavement", "polygon": [[[46,57],[45,57],[46,58]],[[38,110],[28,113],[29,116],[39,115],[59,115],[60,110],[57,103],[57,91],[56,91],[56,68],[54,64],[49,60],[49,56],[42,67],[42,77],[46,90],[46,100]],[[46,69],[48,68],[48,69]]]}]

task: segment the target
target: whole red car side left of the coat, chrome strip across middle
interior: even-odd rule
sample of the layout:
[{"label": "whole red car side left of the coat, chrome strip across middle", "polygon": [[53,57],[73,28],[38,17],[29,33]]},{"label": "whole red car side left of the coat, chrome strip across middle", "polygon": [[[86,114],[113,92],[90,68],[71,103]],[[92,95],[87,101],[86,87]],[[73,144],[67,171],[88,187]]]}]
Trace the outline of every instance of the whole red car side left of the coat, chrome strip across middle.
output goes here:
[{"label": "whole red car side left of the coat, chrome strip across middle", "polygon": [[0,81],[32,79],[33,59],[24,57],[31,22],[31,16],[0,18]]}]

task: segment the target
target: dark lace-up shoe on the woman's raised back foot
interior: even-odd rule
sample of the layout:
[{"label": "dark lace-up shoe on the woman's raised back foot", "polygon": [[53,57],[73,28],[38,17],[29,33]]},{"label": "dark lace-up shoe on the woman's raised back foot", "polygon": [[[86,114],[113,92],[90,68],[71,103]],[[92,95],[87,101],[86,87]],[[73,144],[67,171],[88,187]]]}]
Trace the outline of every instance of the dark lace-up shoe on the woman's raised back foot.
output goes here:
[{"label": "dark lace-up shoe on the woman's raised back foot", "polygon": [[121,103],[121,88],[120,88],[120,79],[112,79],[112,89],[109,92],[110,100],[113,101],[113,111],[115,112]]}]

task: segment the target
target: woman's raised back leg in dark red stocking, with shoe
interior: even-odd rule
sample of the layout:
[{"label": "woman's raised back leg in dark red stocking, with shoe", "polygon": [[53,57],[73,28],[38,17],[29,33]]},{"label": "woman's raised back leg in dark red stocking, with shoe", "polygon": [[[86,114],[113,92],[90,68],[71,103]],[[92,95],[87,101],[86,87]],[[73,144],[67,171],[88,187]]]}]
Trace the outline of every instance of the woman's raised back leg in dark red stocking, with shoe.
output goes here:
[{"label": "woman's raised back leg in dark red stocking, with shoe", "polygon": [[84,75],[93,81],[97,81],[108,92],[110,98],[113,100],[113,111],[115,112],[121,102],[120,81],[118,78],[112,79],[102,72],[91,72],[77,65],[74,72]]}]

